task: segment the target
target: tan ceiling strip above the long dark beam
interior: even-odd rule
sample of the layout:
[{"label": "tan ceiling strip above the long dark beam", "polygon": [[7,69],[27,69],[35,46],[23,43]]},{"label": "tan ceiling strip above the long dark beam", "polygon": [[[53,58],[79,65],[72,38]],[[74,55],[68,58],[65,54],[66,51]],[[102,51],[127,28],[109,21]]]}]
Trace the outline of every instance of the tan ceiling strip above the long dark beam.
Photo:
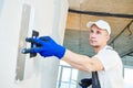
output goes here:
[{"label": "tan ceiling strip above the long dark beam", "polygon": [[133,0],[69,0],[69,6],[81,11],[133,14]]}]

